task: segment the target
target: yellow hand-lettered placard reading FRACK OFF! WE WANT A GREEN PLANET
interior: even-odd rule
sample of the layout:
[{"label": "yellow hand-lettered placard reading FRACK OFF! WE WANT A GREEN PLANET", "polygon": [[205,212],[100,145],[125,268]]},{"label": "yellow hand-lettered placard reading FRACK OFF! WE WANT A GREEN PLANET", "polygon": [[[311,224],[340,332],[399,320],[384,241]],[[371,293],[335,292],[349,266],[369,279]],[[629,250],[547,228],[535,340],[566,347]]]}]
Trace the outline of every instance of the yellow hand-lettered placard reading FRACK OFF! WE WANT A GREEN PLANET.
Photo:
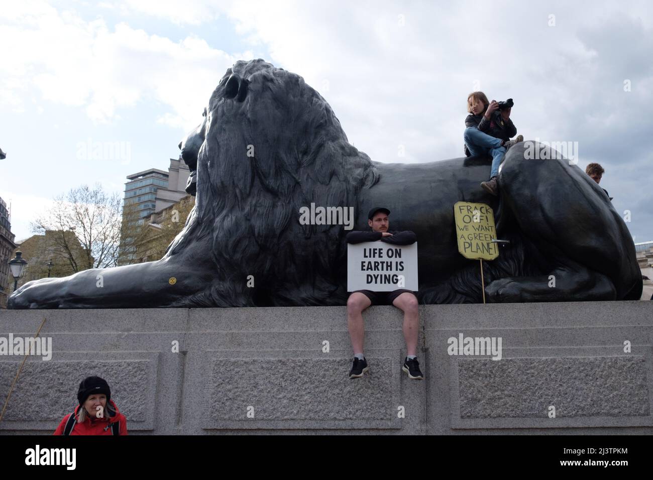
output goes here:
[{"label": "yellow hand-lettered placard reading FRACK OFF! WE WANT A GREEN PLANET", "polygon": [[485,203],[456,202],[453,212],[460,254],[466,259],[496,259],[499,248],[492,243],[496,239],[492,208]]}]

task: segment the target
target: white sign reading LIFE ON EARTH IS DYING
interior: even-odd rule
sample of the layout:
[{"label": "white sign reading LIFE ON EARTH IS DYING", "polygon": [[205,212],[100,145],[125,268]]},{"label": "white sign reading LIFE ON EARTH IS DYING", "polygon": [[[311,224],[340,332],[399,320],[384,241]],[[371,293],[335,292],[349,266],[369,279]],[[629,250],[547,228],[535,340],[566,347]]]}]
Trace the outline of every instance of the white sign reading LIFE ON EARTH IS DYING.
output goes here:
[{"label": "white sign reading LIFE ON EARTH IS DYING", "polygon": [[347,291],[417,291],[417,242],[347,244]]}]

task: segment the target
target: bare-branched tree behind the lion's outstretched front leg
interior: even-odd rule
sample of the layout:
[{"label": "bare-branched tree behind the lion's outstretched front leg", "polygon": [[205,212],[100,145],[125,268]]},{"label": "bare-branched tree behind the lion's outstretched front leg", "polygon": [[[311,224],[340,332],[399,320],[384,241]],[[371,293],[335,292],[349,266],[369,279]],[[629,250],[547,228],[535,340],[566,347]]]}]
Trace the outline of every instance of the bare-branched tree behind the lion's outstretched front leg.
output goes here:
[{"label": "bare-branched tree behind the lion's outstretched front leg", "polygon": [[[65,196],[57,195],[54,206],[32,222],[31,229],[35,233],[55,231],[56,249],[72,270],[79,272],[116,266],[120,222],[121,199],[117,193],[107,195],[100,184],[93,189],[82,185]],[[74,236],[66,233],[70,231]]]}]

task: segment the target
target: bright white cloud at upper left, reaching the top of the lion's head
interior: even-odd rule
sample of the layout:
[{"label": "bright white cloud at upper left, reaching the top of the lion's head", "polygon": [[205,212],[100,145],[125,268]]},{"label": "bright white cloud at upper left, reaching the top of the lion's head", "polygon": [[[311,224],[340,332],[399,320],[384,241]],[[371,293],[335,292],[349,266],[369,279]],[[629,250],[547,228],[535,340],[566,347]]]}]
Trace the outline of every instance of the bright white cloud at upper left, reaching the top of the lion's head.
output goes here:
[{"label": "bright white cloud at upper left, reaching the top of the lion's head", "polygon": [[[22,7],[22,8],[20,8]],[[94,121],[118,118],[141,101],[167,106],[168,125],[189,129],[219,78],[240,56],[197,37],[179,42],[121,23],[86,22],[44,2],[0,10],[0,102],[23,110],[30,86],[52,103],[80,106]],[[251,55],[245,53],[244,55]]]}]

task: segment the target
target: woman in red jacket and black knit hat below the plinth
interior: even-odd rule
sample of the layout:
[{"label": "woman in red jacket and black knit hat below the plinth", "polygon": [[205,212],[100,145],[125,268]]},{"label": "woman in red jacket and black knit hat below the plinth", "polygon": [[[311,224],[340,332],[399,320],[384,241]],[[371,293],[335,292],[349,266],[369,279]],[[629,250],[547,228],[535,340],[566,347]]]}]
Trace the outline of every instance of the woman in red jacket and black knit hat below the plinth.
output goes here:
[{"label": "woman in red jacket and black knit hat below the plinth", "polygon": [[55,435],[127,435],[127,419],[111,400],[111,389],[100,377],[86,377],[77,392],[80,404],[55,430]]}]

